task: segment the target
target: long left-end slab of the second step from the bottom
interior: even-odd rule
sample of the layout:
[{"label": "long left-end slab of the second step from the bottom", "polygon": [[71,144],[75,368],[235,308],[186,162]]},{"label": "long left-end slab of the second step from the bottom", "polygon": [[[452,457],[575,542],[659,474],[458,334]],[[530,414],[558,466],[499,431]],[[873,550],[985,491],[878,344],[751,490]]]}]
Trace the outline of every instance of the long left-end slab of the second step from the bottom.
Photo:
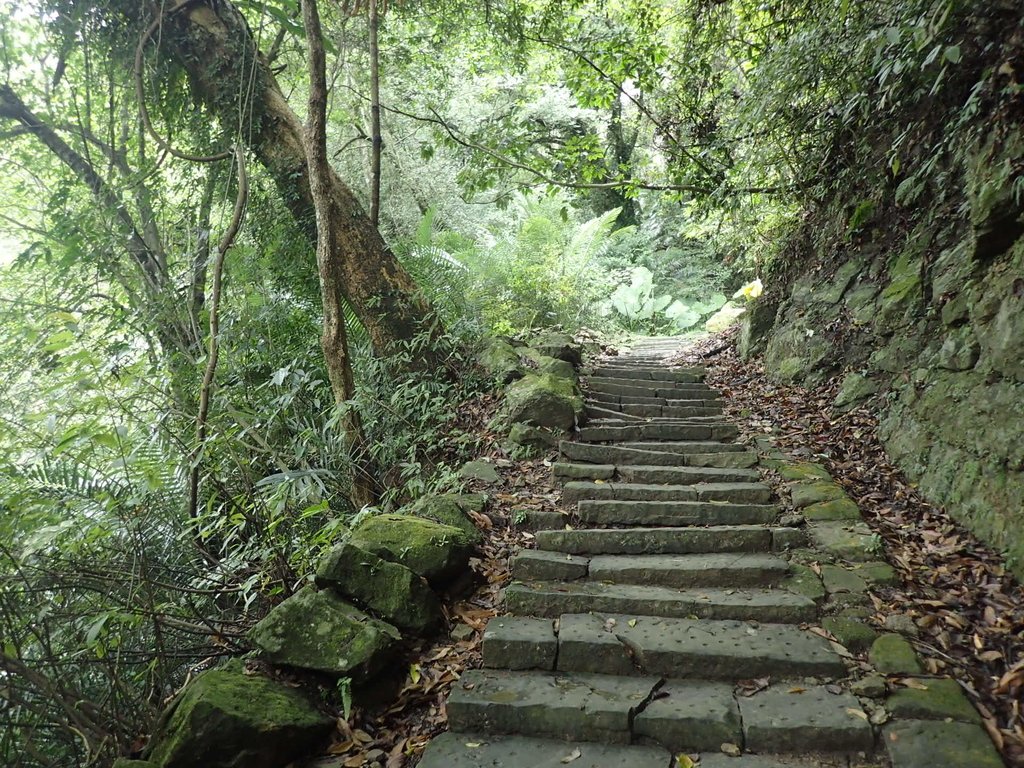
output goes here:
[{"label": "long left-end slab of the second step from the bottom", "polygon": [[457,731],[629,743],[633,714],[659,681],[610,675],[468,670],[452,687]]}]

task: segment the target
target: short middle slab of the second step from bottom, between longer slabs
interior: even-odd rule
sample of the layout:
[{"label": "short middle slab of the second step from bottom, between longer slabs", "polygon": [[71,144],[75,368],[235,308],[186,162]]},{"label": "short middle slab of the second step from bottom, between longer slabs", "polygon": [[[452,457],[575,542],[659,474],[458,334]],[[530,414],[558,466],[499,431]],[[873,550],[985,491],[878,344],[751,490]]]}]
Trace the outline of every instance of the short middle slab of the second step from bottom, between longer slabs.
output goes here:
[{"label": "short middle slab of the second step from bottom, between longer slabs", "polygon": [[633,733],[641,743],[655,743],[677,753],[741,743],[742,727],[732,684],[669,680],[636,716]]}]

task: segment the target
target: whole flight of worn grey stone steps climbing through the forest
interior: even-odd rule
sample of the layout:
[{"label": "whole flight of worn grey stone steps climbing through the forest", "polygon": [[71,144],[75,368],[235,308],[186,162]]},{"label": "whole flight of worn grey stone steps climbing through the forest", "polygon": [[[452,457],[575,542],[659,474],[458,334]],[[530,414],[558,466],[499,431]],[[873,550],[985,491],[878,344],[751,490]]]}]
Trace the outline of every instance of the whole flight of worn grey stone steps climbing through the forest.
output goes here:
[{"label": "whole flight of worn grey stone steps climbing through the forest", "polygon": [[834,682],[843,658],[802,629],[817,605],[786,589],[803,532],[776,522],[702,372],[664,351],[596,364],[587,425],[552,467],[574,511],[534,521],[510,615],[488,626],[484,669],[453,688],[451,732],[422,768],[884,764]]}]

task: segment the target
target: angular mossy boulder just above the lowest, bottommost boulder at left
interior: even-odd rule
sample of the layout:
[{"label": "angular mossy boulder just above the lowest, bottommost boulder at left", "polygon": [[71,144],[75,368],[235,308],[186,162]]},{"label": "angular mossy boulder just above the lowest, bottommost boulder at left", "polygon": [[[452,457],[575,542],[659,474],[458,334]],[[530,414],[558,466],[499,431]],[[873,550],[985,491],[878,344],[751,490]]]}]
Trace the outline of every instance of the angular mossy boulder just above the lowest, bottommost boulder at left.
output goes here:
[{"label": "angular mossy boulder just above the lowest, bottommost boulder at left", "polygon": [[305,587],[267,613],[249,638],[271,664],[366,680],[401,636],[334,592]]}]

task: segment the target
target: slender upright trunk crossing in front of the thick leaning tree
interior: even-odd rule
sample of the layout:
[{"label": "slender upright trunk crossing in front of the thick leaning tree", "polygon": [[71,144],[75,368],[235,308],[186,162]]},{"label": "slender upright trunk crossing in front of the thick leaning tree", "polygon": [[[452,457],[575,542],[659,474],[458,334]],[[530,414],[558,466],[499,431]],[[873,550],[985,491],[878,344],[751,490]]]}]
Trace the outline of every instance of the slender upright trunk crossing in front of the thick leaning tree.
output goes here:
[{"label": "slender upright trunk crossing in front of the thick leaning tree", "polygon": [[377,503],[376,473],[371,470],[359,413],[348,400],[355,393],[352,364],[348,354],[341,262],[333,247],[338,227],[338,211],[331,194],[331,166],[327,160],[327,75],[324,33],[316,0],[302,0],[302,25],[306,31],[309,59],[309,109],[305,152],[309,166],[309,190],[316,218],[316,266],[324,304],[324,333],[321,344],[335,406],[344,409],[345,441],[352,458],[350,500],[356,509]]}]

